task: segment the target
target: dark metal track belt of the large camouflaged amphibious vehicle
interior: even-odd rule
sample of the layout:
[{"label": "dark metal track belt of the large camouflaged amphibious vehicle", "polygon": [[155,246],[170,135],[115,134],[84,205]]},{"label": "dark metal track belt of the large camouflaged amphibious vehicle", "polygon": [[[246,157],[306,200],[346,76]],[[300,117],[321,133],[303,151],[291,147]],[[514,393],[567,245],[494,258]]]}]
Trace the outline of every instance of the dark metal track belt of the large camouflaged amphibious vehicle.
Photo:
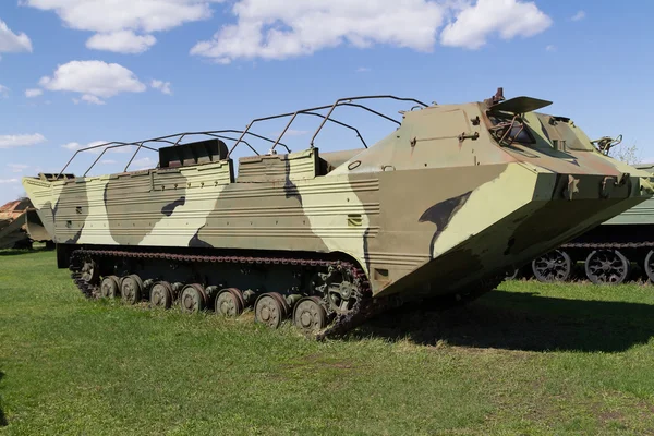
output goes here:
[{"label": "dark metal track belt of the large camouflaged amphibious vehicle", "polygon": [[298,257],[251,257],[251,256],[211,256],[195,254],[175,254],[165,252],[138,252],[121,250],[75,250],[71,254],[70,267],[71,278],[80,291],[88,299],[99,298],[99,286],[90,284],[82,278],[82,266],[85,258],[114,257],[114,258],[143,258],[143,259],[162,259],[183,263],[232,263],[242,265],[291,265],[291,266],[311,266],[311,267],[334,267],[339,270],[347,270],[352,278],[358,293],[358,302],[347,314],[337,314],[335,320],[326,329],[315,334],[315,338],[323,340],[325,338],[339,337],[356,326],[363,324],[366,319],[385,311],[388,307],[386,300],[373,299],[370,283],[365,272],[355,265],[342,261],[320,261]]}]

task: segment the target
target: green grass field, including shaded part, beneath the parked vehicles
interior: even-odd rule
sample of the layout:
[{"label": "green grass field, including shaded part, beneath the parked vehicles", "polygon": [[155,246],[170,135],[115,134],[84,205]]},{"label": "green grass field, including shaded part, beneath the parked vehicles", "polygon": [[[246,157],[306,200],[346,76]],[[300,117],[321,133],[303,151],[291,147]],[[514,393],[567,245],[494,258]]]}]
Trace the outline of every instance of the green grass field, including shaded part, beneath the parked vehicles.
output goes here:
[{"label": "green grass field, including shaded part, beneath the parked vehicles", "polygon": [[654,434],[654,287],[509,282],[318,343],[0,252],[0,435]]}]

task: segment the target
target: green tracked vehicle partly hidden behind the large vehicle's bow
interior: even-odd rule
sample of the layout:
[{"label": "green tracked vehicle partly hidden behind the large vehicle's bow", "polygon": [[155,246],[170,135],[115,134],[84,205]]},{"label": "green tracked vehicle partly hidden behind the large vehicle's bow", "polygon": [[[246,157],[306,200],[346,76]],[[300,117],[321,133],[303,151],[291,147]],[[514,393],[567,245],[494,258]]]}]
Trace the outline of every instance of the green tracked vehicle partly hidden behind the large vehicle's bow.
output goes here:
[{"label": "green tracked vehicle partly hidden behind the large vehicle's bow", "polygon": [[[654,164],[635,168],[654,174]],[[619,284],[639,266],[654,282],[654,199],[647,199],[574,240],[546,253],[523,272],[543,282],[568,281],[583,262],[585,278],[595,284]]]}]

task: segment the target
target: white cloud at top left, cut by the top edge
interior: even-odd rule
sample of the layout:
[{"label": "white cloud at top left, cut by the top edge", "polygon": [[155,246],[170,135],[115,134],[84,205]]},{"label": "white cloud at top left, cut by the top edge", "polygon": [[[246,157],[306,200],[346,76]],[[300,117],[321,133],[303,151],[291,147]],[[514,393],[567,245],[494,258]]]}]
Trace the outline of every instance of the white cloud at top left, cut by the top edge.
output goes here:
[{"label": "white cloud at top left, cut by the top edge", "polygon": [[[95,32],[87,47],[138,53],[156,43],[150,34],[207,20],[211,3],[223,0],[22,0],[23,5],[55,11],[65,26]],[[140,34],[140,35],[137,35]]]}]

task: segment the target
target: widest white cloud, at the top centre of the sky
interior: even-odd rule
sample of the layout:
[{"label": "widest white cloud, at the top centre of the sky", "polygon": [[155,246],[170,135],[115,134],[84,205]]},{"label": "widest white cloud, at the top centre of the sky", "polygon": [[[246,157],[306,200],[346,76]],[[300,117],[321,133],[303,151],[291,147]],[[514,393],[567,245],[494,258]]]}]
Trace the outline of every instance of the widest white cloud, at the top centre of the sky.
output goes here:
[{"label": "widest white cloud, at the top centre of the sky", "polygon": [[287,59],[341,45],[383,44],[431,51],[446,8],[428,0],[240,0],[235,24],[222,26],[191,53],[234,59]]}]

